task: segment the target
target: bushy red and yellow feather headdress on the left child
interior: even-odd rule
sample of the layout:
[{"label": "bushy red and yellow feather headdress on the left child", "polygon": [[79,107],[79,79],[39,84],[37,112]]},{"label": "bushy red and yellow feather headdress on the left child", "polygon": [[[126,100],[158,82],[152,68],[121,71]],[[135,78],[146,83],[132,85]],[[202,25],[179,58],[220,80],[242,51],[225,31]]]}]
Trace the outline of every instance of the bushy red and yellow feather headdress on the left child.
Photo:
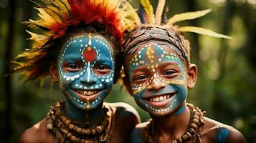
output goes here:
[{"label": "bushy red and yellow feather headdress on the left child", "polygon": [[13,72],[22,71],[27,79],[45,77],[49,74],[47,54],[52,50],[52,41],[64,36],[67,29],[81,24],[102,24],[105,31],[122,39],[127,11],[121,0],[39,0],[37,20],[30,19],[24,24],[32,29],[27,31],[33,41],[13,60],[17,66]]}]

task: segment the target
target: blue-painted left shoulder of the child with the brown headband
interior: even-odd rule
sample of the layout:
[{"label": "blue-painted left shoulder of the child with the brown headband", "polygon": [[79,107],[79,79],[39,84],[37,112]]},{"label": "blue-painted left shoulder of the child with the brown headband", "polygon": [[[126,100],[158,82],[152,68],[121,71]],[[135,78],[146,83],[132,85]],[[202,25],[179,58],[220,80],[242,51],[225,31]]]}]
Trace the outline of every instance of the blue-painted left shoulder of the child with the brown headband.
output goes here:
[{"label": "blue-painted left shoulder of the child with the brown headband", "polygon": [[148,126],[150,122],[143,122],[137,124],[131,133],[130,140],[133,143],[141,143],[144,142],[144,129]]}]

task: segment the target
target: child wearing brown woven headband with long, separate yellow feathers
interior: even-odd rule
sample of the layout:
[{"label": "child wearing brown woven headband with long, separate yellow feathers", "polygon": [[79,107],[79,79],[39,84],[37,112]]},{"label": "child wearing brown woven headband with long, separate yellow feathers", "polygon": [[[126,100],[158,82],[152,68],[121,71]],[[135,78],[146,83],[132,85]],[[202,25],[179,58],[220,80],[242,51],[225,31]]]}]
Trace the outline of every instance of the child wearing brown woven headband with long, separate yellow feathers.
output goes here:
[{"label": "child wearing brown woven headband with long, separate yellow feathers", "polygon": [[175,28],[172,24],[203,16],[209,10],[177,14],[161,25],[163,1],[158,2],[156,17],[148,13],[150,5],[146,6],[145,1],[141,4],[146,18],[142,21],[148,24],[141,24],[134,16],[137,26],[124,44],[123,80],[151,119],[136,125],[131,142],[245,142],[239,131],[204,117],[205,112],[186,102],[188,89],[196,84],[197,68],[189,61],[189,42],[180,31],[229,37],[198,27]]}]

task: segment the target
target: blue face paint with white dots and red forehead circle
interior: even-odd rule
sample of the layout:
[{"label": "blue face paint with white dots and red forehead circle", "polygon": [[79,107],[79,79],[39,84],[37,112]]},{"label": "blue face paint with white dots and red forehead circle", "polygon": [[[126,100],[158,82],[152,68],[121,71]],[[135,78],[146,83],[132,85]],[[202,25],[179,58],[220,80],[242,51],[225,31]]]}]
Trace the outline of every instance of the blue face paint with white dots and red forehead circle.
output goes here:
[{"label": "blue face paint with white dots and red forehead circle", "polygon": [[113,49],[99,35],[82,34],[65,44],[58,60],[60,89],[80,109],[95,109],[113,85]]}]

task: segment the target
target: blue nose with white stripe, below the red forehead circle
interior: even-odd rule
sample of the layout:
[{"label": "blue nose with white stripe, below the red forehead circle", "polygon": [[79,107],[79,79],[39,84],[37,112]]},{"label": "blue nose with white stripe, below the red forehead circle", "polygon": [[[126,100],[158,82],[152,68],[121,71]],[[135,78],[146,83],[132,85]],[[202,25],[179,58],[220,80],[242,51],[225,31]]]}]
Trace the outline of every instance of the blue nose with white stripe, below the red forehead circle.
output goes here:
[{"label": "blue nose with white stripe, below the red forehead circle", "polygon": [[90,67],[87,68],[84,74],[82,74],[80,82],[87,85],[93,85],[97,83],[97,77],[95,77]]}]

